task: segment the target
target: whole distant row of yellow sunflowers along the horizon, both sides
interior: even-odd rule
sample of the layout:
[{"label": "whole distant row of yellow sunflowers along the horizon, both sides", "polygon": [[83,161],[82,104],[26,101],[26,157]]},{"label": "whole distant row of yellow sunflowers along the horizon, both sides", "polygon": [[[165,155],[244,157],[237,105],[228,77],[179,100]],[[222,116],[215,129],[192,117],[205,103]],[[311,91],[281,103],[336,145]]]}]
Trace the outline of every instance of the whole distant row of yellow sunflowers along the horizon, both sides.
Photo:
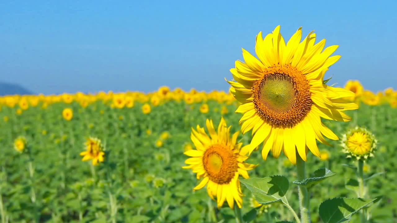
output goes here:
[{"label": "whole distant row of yellow sunflowers along the horizon, both sides", "polygon": [[[393,88],[386,88],[383,91],[374,93],[370,90],[365,90],[357,80],[347,81],[344,88],[355,93],[355,97],[350,98],[351,101],[362,101],[364,104],[371,106],[390,104],[392,108],[397,108],[397,90],[393,90]],[[10,108],[14,108],[15,106],[19,106],[21,110],[26,110],[29,106],[35,107],[40,105],[42,108],[46,108],[49,104],[56,102],[70,104],[75,101],[85,108],[93,102],[102,101],[112,108],[132,108],[134,106],[134,102],[137,101],[145,103],[145,108],[143,108],[145,113],[145,111],[150,112],[150,106],[158,106],[160,103],[164,103],[169,100],[183,100],[187,104],[216,100],[220,103],[231,104],[235,101],[235,98],[230,92],[227,93],[224,91],[214,90],[207,93],[191,89],[189,92],[185,92],[181,88],[170,90],[169,87],[162,86],[156,92],[150,92],[148,94],[142,92],[114,93],[109,91],[107,93],[98,92],[97,94],[84,94],[82,92],[77,92],[76,94],[64,93],[60,95],[39,94],[0,96],[0,107],[8,106]]]}]

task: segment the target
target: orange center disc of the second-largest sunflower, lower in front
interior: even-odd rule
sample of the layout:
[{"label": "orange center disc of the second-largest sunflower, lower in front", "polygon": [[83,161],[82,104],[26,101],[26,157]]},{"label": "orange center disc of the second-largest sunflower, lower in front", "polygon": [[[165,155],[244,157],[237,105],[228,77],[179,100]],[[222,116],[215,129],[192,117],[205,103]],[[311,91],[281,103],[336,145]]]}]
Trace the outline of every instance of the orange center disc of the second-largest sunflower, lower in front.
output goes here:
[{"label": "orange center disc of the second-largest sunflower, lower in front", "polygon": [[208,178],[218,184],[229,183],[238,168],[236,155],[229,147],[221,144],[208,147],[202,162]]}]

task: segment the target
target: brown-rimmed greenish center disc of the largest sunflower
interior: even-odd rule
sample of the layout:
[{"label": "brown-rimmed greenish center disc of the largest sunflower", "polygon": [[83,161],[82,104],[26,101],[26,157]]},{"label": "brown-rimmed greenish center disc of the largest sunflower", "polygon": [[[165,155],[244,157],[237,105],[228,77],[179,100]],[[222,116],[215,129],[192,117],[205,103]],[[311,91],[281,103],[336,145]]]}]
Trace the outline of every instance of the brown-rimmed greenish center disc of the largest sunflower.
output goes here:
[{"label": "brown-rimmed greenish center disc of the largest sunflower", "polygon": [[312,106],[305,75],[291,65],[277,65],[255,81],[253,102],[258,114],[274,127],[290,128],[300,123]]}]

